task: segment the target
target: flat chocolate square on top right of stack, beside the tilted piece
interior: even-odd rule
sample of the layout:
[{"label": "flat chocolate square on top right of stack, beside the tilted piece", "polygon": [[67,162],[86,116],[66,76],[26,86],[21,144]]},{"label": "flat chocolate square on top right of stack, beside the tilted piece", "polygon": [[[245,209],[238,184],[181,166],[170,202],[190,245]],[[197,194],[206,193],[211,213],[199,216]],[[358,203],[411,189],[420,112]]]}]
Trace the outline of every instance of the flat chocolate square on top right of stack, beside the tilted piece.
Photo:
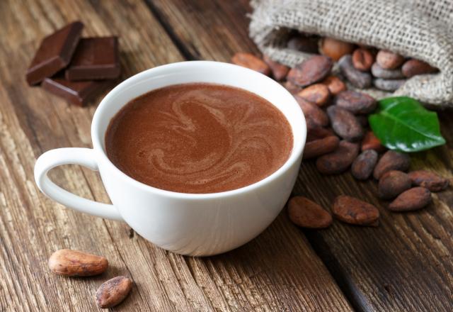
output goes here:
[{"label": "flat chocolate square on top right of stack, beside the tilted piece", "polygon": [[115,79],[118,76],[120,59],[117,37],[82,38],[66,69],[66,79],[71,81]]}]

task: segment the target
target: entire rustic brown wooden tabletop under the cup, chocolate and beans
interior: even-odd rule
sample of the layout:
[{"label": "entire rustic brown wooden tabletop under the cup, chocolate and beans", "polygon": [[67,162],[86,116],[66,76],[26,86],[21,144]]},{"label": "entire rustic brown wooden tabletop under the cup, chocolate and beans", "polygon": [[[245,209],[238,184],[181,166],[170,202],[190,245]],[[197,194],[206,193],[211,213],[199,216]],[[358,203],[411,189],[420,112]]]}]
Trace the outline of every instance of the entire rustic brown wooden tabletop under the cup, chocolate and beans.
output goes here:
[{"label": "entire rustic brown wooden tabletop under the cup, chocolate and beans", "polygon": [[[350,194],[379,207],[378,228],[335,222],[301,230],[284,212],[251,243],[216,257],[182,257],[147,242],[125,224],[71,211],[40,194],[36,158],[56,147],[91,147],[96,105],[69,106],[25,83],[40,39],[74,20],[84,35],[119,35],[122,79],[181,60],[230,60],[258,52],[248,38],[248,1],[0,1],[0,311],[93,311],[106,279],[132,277],[117,311],[452,311],[453,191],[428,208],[390,213],[374,182],[349,173],[323,177],[304,162],[294,194],[330,207]],[[96,101],[98,103],[98,101]],[[412,168],[452,177],[451,112],[440,113],[447,146],[413,155]],[[69,191],[108,202],[98,174],[54,169]],[[51,274],[60,248],[108,258],[94,278]]]}]

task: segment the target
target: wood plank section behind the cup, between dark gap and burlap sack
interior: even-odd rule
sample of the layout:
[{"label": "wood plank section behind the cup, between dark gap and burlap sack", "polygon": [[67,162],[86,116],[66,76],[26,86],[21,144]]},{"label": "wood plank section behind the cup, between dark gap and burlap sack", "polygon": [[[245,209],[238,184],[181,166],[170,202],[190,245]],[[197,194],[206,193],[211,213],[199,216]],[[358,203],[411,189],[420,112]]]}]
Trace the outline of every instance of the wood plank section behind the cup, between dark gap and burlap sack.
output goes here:
[{"label": "wood plank section behind the cup, between dark gap and burlap sack", "polygon": [[258,52],[248,39],[247,0],[146,1],[190,59],[230,62],[235,52]]}]

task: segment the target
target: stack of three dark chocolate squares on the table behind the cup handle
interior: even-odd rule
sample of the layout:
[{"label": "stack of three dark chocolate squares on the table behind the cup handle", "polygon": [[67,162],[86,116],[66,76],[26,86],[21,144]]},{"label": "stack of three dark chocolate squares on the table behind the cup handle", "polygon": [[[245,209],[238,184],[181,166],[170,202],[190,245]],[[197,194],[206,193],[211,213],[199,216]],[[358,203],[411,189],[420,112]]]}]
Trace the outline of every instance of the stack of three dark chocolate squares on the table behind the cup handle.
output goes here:
[{"label": "stack of three dark chocolate squares on the table behind the cup handle", "polygon": [[85,106],[121,74],[117,37],[81,38],[84,24],[76,21],[48,35],[41,42],[26,79]]}]

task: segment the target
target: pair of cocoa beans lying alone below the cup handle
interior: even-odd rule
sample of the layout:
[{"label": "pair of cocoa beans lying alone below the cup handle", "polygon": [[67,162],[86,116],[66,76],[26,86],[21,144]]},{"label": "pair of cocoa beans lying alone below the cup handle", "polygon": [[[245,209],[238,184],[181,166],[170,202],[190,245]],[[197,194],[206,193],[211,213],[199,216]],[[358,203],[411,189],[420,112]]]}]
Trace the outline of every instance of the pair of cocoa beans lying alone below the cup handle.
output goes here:
[{"label": "pair of cocoa beans lying alone below the cup handle", "polygon": [[[92,277],[108,269],[108,260],[78,250],[62,249],[50,256],[49,268],[55,274],[66,277]],[[95,295],[96,303],[100,308],[112,308],[120,304],[131,289],[132,279],[114,277],[99,286]]]}]

